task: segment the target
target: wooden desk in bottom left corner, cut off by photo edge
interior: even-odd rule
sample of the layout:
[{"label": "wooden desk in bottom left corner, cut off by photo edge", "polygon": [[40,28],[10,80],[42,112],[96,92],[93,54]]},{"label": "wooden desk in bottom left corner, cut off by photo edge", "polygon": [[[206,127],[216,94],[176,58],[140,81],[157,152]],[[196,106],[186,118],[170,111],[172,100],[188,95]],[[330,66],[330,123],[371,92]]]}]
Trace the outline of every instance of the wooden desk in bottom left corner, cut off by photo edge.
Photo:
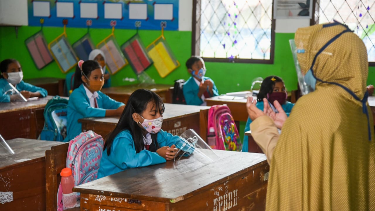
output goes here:
[{"label": "wooden desk in bottom left corner, cut off by photo edge", "polygon": [[45,151],[63,143],[21,138],[7,143],[15,154],[0,146],[0,210],[44,211]]}]

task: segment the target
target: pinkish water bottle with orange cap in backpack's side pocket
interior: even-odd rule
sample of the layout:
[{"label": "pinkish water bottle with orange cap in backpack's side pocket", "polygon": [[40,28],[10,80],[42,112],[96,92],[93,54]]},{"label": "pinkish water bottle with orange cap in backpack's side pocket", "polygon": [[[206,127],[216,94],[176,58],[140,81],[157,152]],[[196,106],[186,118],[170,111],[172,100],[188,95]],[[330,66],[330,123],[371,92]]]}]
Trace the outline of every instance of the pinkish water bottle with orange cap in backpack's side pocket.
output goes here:
[{"label": "pinkish water bottle with orange cap in backpack's side pocket", "polygon": [[74,177],[72,169],[64,168],[61,170],[61,187],[63,189],[63,209],[74,208],[77,206],[78,196],[73,192]]}]

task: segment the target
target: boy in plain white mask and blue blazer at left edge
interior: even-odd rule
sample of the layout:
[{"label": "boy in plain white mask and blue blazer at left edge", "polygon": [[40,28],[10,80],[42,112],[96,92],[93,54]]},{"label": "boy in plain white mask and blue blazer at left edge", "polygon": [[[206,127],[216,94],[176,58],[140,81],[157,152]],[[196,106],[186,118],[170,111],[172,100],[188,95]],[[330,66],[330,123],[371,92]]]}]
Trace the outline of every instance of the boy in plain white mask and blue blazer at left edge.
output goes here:
[{"label": "boy in plain white mask and blue blazer at left edge", "polygon": [[15,59],[5,59],[0,63],[0,102],[10,102],[19,99],[17,95],[9,95],[10,84],[25,97],[45,97],[47,90],[25,83],[20,63]]}]

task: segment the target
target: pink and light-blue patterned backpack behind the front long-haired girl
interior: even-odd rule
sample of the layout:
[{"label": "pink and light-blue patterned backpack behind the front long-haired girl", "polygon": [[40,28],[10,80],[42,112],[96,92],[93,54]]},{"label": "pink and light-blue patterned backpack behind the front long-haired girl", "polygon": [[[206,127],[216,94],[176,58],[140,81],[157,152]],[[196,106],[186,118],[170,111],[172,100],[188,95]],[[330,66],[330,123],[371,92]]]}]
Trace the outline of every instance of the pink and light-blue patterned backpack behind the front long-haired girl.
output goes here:
[{"label": "pink and light-blue patterned backpack behind the front long-haired girl", "polygon": [[[69,142],[66,167],[72,169],[75,186],[98,178],[98,169],[103,153],[104,140],[92,130],[83,132]],[[77,193],[77,205],[80,194]],[[57,191],[57,210],[63,210],[63,190]]]}]

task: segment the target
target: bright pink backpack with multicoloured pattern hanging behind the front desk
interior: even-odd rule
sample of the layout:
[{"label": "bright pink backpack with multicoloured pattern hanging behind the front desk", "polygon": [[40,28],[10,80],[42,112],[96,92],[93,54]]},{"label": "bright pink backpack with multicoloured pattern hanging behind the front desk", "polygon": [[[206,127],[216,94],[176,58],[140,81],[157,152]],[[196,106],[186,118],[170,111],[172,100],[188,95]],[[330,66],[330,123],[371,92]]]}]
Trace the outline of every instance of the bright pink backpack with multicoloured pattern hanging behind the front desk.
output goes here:
[{"label": "bright pink backpack with multicoloured pattern hanging behind the front desk", "polygon": [[208,133],[208,136],[214,136],[214,139],[216,139],[216,145],[213,146],[213,149],[241,151],[240,136],[228,106],[211,106],[210,110],[208,110],[207,127],[208,129],[214,128],[214,134]]}]

